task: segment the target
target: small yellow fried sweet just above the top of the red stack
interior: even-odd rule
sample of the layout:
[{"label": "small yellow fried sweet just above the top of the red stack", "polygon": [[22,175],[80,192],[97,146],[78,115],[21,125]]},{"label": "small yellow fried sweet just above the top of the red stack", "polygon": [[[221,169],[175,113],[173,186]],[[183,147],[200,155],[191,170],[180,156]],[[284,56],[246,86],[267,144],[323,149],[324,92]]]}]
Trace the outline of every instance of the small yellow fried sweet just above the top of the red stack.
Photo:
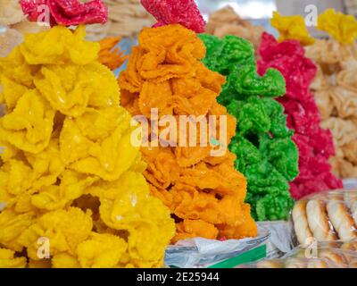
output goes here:
[{"label": "small yellow fried sweet just above the top of the red stack", "polygon": [[286,39],[298,40],[303,46],[308,46],[314,43],[314,38],[311,38],[309,31],[306,28],[303,16],[281,16],[278,12],[273,13],[271,26],[278,29],[280,33],[279,41]]}]

